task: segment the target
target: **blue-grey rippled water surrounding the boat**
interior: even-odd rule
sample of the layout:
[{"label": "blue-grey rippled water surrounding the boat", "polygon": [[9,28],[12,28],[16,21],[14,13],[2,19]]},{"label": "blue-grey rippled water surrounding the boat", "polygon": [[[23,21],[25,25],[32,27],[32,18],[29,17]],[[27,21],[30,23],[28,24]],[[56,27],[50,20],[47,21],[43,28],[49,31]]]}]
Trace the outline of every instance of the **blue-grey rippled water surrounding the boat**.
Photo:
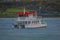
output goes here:
[{"label": "blue-grey rippled water surrounding the boat", "polygon": [[15,29],[15,18],[0,18],[0,40],[60,40],[60,18],[44,18],[46,28]]}]

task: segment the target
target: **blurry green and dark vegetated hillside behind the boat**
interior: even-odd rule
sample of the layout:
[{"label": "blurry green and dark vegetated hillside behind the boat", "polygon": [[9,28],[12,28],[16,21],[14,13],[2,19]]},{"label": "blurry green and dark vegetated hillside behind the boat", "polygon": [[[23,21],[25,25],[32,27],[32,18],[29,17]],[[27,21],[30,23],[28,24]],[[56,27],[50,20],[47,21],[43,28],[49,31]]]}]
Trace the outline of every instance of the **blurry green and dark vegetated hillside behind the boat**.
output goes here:
[{"label": "blurry green and dark vegetated hillside behind the boat", "polygon": [[[60,16],[60,1],[21,1],[21,2],[1,2],[0,17],[16,17],[16,13],[23,11],[37,10],[38,15],[42,16]],[[41,7],[41,8],[39,8]]]}]

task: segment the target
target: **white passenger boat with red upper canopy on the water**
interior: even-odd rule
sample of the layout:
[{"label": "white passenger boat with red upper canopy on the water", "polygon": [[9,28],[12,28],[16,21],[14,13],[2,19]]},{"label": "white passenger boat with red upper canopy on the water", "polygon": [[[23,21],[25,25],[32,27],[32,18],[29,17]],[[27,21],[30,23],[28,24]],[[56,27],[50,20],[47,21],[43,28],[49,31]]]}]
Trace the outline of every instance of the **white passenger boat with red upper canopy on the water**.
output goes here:
[{"label": "white passenger boat with red upper canopy on the water", "polygon": [[18,12],[16,23],[14,24],[15,28],[45,28],[47,24],[43,24],[41,20],[41,16],[37,16],[37,11],[25,11]]}]

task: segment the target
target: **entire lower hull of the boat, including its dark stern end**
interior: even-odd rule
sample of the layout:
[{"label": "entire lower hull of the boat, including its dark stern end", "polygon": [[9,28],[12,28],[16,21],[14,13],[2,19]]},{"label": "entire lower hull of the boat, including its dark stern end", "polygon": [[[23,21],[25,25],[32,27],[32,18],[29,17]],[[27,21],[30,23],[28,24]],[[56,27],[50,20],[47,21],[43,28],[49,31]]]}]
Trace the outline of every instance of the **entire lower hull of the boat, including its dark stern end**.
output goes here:
[{"label": "entire lower hull of the boat, including its dark stern end", "polygon": [[15,28],[21,29],[21,28],[46,28],[47,24],[28,24],[28,25],[14,25]]}]

